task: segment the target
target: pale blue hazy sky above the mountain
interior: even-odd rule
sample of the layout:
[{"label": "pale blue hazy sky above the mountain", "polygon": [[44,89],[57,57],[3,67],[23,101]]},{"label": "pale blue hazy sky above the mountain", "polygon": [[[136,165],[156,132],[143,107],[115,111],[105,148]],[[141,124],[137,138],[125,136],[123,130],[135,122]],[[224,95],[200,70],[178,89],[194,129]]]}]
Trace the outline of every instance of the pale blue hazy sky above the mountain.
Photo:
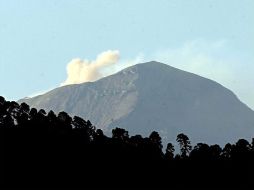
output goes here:
[{"label": "pale blue hazy sky above the mountain", "polygon": [[157,60],[216,80],[254,108],[253,10],[253,0],[0,0],[0,95],[70,83],[68,63],[96,80]]}]

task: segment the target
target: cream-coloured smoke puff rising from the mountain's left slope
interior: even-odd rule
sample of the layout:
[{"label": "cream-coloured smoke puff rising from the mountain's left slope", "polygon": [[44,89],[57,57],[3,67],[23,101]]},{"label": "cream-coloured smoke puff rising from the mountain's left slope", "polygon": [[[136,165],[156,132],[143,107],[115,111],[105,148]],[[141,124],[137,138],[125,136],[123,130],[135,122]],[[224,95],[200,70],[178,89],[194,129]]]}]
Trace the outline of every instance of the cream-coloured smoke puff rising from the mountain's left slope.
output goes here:
[{"label": "cream-coloured smoke puff rising from the mountain's left slope", "polygon": [[94,61],[73,59],[67,65],[68,76],[61,86],[98,80],[103,77],[103,69],[116,64],[119,57],[119,51],[108,50],[99,54]]}]

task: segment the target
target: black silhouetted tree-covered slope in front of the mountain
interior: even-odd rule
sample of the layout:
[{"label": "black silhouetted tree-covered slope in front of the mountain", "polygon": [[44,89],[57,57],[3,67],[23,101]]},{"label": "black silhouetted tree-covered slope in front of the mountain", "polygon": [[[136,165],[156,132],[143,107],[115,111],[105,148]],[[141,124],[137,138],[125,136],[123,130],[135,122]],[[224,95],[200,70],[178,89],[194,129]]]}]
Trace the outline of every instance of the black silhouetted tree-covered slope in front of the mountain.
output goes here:
[{"label": "black silhouetted tree-covered slope in front of the mountain", "polygon": [[244,139],[223,148],[192,147],[179,134],[181,150],[175,155],[171,143],[163,151],[157,132],[130,137],[115,128],[107,137],[80,117],[0,97],[0,140],[5,187],[254,186],[254,142]]}]

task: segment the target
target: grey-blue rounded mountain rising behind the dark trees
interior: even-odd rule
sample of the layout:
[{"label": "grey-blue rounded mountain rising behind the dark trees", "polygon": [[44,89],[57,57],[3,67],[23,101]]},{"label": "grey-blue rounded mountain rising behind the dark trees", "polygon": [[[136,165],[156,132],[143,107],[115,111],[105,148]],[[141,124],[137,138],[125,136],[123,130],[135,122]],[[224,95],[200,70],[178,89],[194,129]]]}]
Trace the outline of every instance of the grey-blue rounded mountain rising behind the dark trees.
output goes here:
[{"label": "grey-blue rounded mountain rising behind the dark trees", "polygon": [[19,102],[81,116],[108,134],[115,127],[144,136],[155,130],[172,142],[183,132],[193,143],[209,144],[254,137],[254,111],[233,92],[154,61]]}]

